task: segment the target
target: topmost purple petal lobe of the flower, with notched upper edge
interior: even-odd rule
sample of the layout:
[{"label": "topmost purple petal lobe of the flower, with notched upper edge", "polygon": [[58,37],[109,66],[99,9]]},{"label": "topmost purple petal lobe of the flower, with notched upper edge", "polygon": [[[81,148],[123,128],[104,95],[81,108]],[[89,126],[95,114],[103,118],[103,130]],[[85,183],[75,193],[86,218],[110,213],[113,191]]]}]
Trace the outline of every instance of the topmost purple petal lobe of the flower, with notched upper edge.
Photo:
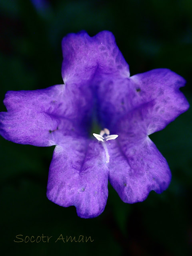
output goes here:
[{"label": "topmost purple petal lobe of the flower, with notched upper edge", "polygon": [[62,40],[64,83],[93,80],[97,74],[119,72],[129,76],[129,66],[118,49],[113,34],[102,31],[90,37],[85,31],[68,34]]}]

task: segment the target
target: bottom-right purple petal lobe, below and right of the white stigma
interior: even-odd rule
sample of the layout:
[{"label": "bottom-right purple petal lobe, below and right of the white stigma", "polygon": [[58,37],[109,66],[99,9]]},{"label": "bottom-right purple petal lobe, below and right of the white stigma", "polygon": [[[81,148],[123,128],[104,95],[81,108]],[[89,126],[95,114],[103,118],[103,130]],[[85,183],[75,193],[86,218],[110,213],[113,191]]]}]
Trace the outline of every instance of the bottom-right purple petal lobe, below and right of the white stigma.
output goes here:
[{"label": "bottom-right purple petal lobe, below and right of the white stigma", "polygon": [[151,190],[161,193],[170,184],[168,164],[148,136],[136,143],[131,137],[112,141],[108,151],[109,181],[122,201],[142,202]]}]

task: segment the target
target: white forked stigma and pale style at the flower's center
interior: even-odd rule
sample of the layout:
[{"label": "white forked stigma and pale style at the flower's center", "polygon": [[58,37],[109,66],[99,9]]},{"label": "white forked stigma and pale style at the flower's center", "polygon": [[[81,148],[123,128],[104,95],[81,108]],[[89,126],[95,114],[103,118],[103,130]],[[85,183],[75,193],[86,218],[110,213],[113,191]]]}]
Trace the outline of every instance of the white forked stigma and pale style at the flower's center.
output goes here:
[{"label": "white forked stigma and pale style at the flower's center", "polygon": [[109,153],[108,153],[108,149],[107,149],[107,146],[106,146],[106,141],[108,140],[114,140],[118,137],[117,134],[112,134],[110,135],[110,131],[107,129],[107,128],[104,128],[104,130],[101,130],[100,131],[100,134],[96,134],[96,133],[93,133],[93,136],[98,140],[98,141],[101,141],[103,142],[102,145],[104,147],[104,150],[105,150],[105,154],[106,154],[106,163],[109,162]]}]

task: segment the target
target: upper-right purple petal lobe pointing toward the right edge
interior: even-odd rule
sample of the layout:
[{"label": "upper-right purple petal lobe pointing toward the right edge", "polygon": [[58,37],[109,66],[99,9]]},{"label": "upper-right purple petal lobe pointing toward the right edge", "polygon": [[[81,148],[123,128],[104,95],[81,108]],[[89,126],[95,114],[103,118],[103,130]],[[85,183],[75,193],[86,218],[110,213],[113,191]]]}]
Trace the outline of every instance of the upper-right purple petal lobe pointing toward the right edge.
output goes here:
[{"label": "upper-right purple petal lobe pointing toward the right edge", "polygon": [[162,130],[180,114],[188,110],[189,104],[179,88],[186,81],[166,68],[154,69],[130,78],[138,88],[140,102],[153,102],[145,116],[148,135]]}]

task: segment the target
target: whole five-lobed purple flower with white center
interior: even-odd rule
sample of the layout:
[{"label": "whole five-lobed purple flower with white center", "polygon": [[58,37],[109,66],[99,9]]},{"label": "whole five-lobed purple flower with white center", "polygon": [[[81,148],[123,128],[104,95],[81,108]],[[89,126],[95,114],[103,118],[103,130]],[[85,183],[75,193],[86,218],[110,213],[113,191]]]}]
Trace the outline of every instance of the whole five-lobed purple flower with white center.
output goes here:
[{"label": "whole five-lobed purple flower with white center", "polygon": [[[185,80],[165,68],[130,77],[108,31],[68,34],[62,50],[64,84],[7,92],[0,134],[20,144],[56,145],[47,197],[75,206],[82,218],[103,212],[108,180],[126,203],[164,191],[170,169],[148,135],[188,109],[179,90]],[[102,131],[89,136],[95,121]]]}]

